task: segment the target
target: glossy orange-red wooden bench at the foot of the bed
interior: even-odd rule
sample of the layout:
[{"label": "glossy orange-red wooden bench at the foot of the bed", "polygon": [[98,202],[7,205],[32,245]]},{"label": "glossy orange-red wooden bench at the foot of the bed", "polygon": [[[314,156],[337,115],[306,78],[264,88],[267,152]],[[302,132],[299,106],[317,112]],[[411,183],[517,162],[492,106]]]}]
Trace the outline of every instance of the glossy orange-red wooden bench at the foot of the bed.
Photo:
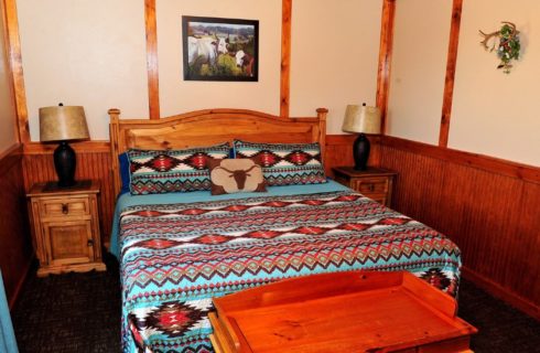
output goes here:
[{"label": "glossy orange-red wooden bench at the foot of the bed", "polygon": [[409,272],[313,275],[215,298],[216,352],[472,352],[456,301]]}]

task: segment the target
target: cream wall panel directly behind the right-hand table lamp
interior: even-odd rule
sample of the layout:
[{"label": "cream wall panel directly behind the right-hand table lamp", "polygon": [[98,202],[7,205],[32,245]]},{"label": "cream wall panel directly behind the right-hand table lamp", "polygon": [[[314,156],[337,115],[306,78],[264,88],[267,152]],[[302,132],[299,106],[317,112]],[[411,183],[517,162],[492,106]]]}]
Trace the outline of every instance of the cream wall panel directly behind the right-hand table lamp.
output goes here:
[{"label": "cream wall panel directly behind the right-hand table lamp", "polygon": [[381,0],[293,0],[290,115],[328,108],[343,133],[347,104],[375,105]]}]

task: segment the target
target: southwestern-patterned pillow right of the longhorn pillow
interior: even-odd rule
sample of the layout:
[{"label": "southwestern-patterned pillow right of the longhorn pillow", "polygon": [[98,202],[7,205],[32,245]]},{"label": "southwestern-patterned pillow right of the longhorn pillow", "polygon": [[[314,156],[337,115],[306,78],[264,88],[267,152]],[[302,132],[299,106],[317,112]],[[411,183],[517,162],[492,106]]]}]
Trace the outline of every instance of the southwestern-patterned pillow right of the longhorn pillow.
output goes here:
[{"label": "southwestern-patterned pillow right of the longhorn pillow", "polygon": [[236,158],[258,158],[270,186],[326,182],[321,146],[315,143],[252,143],[235,140]]}]

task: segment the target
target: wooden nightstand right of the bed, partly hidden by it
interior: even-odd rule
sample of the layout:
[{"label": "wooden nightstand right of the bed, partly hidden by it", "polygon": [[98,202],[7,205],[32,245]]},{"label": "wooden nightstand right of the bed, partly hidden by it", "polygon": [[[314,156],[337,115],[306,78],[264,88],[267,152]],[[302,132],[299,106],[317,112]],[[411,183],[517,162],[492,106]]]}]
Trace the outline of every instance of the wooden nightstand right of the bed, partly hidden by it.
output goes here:
[{"label": "wooden nightstand right of the bed, partly hidden by it", "polygon": [[353,167],[337,167],[332,170],[338,183],[390,207],[393,181],[398,173],[371,167],[364,171],[355,170]]}]

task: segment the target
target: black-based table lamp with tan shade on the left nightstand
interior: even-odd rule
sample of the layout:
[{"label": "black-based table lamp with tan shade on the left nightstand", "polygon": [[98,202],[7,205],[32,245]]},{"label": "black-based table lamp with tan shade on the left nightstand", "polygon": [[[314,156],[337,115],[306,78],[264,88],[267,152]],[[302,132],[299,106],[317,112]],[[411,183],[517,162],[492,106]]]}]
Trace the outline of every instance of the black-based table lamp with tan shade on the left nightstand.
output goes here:
[{"label": "black-based table lamp with tan shade on the left nightstand", "polygon": [[60,141],[54,150],[54,169],[58,175],[58,188],[76,185],[75,167],[76,157],[73,148],[67,143],[72,140],[88,139],[85,109],[79,106],[64,106],[62,103],[55,107],[40,108],[40,140],[42,142]]}]

